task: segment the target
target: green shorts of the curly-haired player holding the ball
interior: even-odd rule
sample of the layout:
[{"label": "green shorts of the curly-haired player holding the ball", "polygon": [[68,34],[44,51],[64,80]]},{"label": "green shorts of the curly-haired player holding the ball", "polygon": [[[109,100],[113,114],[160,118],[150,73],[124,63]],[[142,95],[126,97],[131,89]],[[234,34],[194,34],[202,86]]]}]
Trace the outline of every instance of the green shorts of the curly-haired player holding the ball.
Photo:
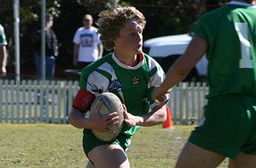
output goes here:
[{"label": "green shorts of the curly-haired player holding the ball", "polygon": [[131,136],[127,136],[121,132],[119,133],[118,137],[113,139],[113,141],[101,141],[94,136],[91,130],[84,129],[83,148],[84,148],[84,154],[86,154],[87,157],[88,157],[88,153],[92,148],[95,148],[97,146],[101,146],[104,144],[119,144],[126,151],[131,145]]}]

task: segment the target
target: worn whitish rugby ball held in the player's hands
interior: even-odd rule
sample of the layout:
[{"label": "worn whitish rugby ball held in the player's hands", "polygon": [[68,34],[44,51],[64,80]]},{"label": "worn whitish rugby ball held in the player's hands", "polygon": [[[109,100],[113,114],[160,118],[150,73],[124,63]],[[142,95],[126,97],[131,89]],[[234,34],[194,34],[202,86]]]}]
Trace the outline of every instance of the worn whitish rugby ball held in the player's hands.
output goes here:
[{"label": "worn whitish rugby ball held in the player's hands", "polygon": [[[98,105],[101,104],[101,108],[97,109]],[[102,141],[111,141],[119,135],[121,132],[124,122],[124,108],[120,99],[112,92],[103,92],[91,104],[90,115],[98,113],[99,115],[108,115],[113,112],[119,113],[119,123],[114,126],[109,126],[108,129],[114,131],[111,132],[98,132],[92,130],[94,135]]]}]

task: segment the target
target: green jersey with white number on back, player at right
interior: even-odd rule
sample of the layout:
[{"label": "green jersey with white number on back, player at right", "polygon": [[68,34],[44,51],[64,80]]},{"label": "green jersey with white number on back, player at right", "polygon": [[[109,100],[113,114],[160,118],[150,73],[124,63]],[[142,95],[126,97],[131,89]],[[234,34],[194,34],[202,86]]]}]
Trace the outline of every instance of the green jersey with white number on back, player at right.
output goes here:
[{"label": "green jersey with white number on back, player at right", "polygon": [[256,95],[256,8],[231,1],[205,14],[192,34],[207,44],[207,98],[224,94]]}]

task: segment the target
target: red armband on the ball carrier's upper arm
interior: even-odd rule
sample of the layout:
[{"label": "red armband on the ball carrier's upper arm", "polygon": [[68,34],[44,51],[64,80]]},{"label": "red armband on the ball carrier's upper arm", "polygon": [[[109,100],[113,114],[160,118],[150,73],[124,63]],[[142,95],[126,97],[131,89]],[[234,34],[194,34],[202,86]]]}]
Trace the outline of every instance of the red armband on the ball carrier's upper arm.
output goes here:
[{"label": "red armband on the ball carrier's upper arm", "polygon": [[73,107],[79,109],[82,113],[85,113],[88,109],[90,109],[90,104],[94,98],[95,96],[91,92],[80,89],[73,100]]}]

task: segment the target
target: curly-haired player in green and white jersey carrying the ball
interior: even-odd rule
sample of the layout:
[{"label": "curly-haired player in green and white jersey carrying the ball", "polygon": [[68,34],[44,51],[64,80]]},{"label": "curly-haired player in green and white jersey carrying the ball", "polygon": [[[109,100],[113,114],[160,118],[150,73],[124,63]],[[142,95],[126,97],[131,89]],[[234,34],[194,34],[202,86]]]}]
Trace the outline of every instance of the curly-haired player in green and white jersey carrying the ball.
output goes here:
[{"label": "curly-haired player in green and white jersey carrying the ball", "polygon": [[[159,125],[166,120],[168,94],[160,103],[151,98],[154,87],[164,81],[165,73],[142,51],[146,21],[136,8],[118,7],[102,11],[96,23],[103,46],[113,52],[82,70],[80,90],[74,98],[68,120],[71,125],[84,129],[84,153],[90,160],[87,167],[129,168],[125,151],[131,144],[131,137],[140,126]],[[113,92],[125,104],[122,131],[109,142],[98,140],[91,129],[108,131],[109,125],[116,124],[117,113],[90,118],[83,116],[95,96],[102,92]]]}]

